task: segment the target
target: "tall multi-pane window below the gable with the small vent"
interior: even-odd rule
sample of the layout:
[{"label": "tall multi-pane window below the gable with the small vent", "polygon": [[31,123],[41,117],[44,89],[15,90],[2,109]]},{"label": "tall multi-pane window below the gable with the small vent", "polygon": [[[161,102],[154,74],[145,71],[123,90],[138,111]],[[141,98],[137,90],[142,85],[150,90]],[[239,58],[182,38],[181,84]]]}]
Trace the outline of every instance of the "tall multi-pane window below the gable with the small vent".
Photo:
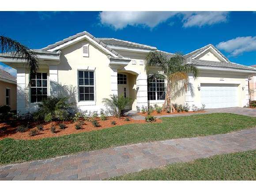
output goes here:
[{"label": "tall multi-pane window below the gable with the small vent", "polygon": [[94,101],[94,71],[79,70],[79,101]]}]

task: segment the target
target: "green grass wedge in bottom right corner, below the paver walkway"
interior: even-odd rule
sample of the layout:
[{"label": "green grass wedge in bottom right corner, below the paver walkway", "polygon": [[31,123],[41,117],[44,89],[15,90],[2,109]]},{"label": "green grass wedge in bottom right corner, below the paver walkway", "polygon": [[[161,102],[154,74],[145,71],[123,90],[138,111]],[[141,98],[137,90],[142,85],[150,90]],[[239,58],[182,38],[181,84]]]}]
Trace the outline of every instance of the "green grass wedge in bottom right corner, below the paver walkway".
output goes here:
[{"label": "green grass wedge in bottom right corner, below the paver walkway", "polygon": [[256,150],[179,162],[109,180],[256,180]]}]

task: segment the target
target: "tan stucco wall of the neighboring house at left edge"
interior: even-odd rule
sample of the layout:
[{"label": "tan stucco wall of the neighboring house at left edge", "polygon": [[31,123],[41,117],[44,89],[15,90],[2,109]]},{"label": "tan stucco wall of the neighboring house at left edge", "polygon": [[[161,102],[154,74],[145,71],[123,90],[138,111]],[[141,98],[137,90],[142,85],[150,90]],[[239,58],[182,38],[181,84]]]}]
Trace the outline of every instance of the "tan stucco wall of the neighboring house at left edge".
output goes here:
[{"label": "tan stucco wall of the neighboring house at left edge", "polygon": [[6,89],[10,89],[10,107],[16,110],[17,86],[16,84],[0,81],[0,105],[6,105]]}]

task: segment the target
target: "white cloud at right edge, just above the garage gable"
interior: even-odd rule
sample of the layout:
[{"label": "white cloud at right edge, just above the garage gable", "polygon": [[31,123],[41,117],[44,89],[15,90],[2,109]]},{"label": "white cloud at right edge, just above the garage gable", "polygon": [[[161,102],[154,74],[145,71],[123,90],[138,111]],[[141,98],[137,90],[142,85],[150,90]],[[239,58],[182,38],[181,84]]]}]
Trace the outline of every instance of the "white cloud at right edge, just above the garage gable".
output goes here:
[{"label": "white cloud at right edge, just above the garage gable", "polygon": [[217,44],[217,48],[230,53],[231,56],[241,55],[243,52],[256,51],[256,36],[237,37],[229,41],[222,41]]}]

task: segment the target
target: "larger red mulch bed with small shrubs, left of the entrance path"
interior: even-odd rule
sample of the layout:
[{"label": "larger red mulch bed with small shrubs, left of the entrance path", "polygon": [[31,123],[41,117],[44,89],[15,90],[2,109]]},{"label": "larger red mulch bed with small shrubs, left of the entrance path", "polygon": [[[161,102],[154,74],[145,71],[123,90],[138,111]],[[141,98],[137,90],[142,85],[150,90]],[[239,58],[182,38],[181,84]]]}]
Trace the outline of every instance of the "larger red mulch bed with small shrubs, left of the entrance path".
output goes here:
[{"label": "larger red mulch bed with small shrubs, left of the entrance path", "polygon": [[[100,130],[100,129],[107,129],[113,126],[121,126],[121,125],[132,124],[132,123],[148,123],[148,122],[145,122],[145,120],[134,120],[132,118],[129,118],[130,121],[124,121],[125,118],[126,117],[121,117],[121,118],[109,117],[106,121],[98,120],[100,127],[94,127],[91,122],[83,121],[84,125],[82,126],[82,129],[79,129],[79,130],[75,129],[75,124],[77,124],[77,122],[73,122],[73,121],[63,122],[66,125],[65,129],[60,129],[60,127],[58,126],[58,124],[61,122],[44,123],[42,124],[43,130],[41,130],[37,135],[33,137],[31,137],[29,133],[31,129],[33,128],[37,129],[36,124],[32,126],[33,128],[28,129],[26,132],[20,133],[20,132],[16,132],[17,127],[11,127],[11,126],[8,126],[6,123],[1,123],[0,124],[0,140],[7,137],[13,138],[13,139],[22,139],[22,140],[36,140],[36,139],[42,139],[46,137],[58,137],[62,135],[69,135],[72,133],[82,133],[82,132],[90,132],[90,131]],[[111,125],[112,121],[115,121],[116,125]],[[162,121],[160,119],[156,119],[156,122],[162,122]],[[51,132],[51,126],[56,126],[56,133]],[[4,127],[6,128],[6,130],[3,129]]]}]

